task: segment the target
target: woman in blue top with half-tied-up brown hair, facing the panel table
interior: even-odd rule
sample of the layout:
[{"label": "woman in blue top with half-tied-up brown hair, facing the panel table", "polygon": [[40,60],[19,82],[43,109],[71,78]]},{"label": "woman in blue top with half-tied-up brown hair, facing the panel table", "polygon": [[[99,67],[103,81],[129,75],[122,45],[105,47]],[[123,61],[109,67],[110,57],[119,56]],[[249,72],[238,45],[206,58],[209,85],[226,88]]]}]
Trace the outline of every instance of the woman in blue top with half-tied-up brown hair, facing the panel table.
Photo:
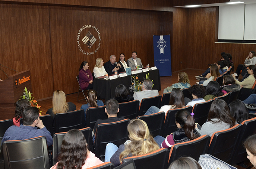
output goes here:
[{"label": "woman in blue top with half-tied-up brown hair, facing the panel table", "polygon": [[81,106],[81,109],[83,109],[83,111],[85,111],[85,120],[86,120],[86,110],[87,108],[89,107],[99,107],[99,106],[102,106],[104,105],[103,101],[102,100],[97,100],[97,92],[95,90],[89,90],[87,92],[87,100],[88,100],[88,103],[87,104],[83,104]]}]

